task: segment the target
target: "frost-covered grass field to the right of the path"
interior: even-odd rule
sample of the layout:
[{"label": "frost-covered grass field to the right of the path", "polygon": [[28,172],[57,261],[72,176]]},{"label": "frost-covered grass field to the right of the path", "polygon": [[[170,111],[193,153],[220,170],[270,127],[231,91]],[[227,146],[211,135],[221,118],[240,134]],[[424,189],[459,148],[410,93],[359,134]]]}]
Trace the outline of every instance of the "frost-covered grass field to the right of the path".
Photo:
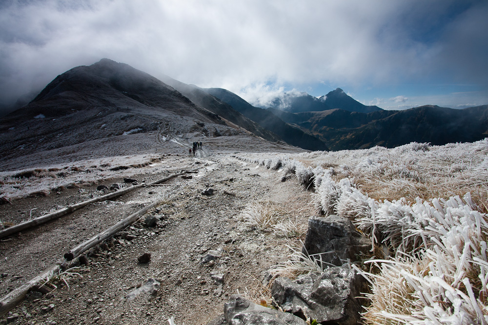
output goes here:
[{"label": "frost-covered grass field to the right of the path", "polygon": [[487,139],[238,158],[295,174],[321,213],[371,239],[353,264],[371,288],[365,324],[488,324]]}]

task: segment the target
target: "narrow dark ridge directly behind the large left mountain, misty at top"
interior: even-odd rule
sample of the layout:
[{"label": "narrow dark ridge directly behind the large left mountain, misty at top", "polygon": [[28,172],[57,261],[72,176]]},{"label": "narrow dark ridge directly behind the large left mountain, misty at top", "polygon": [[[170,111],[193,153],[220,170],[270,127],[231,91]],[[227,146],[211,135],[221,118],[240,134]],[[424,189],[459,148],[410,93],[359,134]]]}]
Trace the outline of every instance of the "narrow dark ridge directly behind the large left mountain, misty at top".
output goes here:
[{"label": "narrow dark ridge directly behind the large left mountain, misty at top", "polygon": [[239,125],[247,131],[261,136],[268,141],[276,142],[282,140],[277,134],[264,129],[255,121],[233,109],[229,104],[221,101],[219,98],[207,94],[197,86],[188,85],[169,76],[163,76],[162,80],[182,93],[184,96],[188,97],[195,104],[202,106],[210,112],[222,116],[226,120]]}]

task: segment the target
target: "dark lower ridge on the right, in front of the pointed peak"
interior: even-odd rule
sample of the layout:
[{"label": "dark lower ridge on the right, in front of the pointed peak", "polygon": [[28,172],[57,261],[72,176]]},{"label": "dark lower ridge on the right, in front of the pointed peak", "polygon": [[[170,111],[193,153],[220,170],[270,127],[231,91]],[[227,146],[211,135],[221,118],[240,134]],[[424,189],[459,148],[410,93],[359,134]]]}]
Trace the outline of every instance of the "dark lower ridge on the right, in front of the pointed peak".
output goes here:
[{"label": "dark lower ridge on the right, in front of the pointed peak", "polygon": [[272,110],[288,123],[320,136],[331,150],[393,148],[412,141],[443,145],[473,142],[488,133],[487,105],[455,110],[421,106],[405,111],[371,113],[329,110],[287,113]]}]

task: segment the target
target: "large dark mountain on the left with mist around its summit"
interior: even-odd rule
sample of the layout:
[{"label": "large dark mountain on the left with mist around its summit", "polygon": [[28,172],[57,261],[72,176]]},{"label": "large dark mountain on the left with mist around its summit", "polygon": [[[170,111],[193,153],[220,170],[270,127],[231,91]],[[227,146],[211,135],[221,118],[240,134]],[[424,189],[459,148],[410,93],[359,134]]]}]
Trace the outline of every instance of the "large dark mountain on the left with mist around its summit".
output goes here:
[{"label": "large dark mountain on the left with mist around its summit", "polygon": [[[270,133],[262,130],[262,134]],[[270,146],[155,77],[102,59],[57,76],[32,102],[0,119],[0,170],[34,160],[39,163],[39,159],[73,160],[162,149],[187,154],[185,143],[192,138],[202,141],[206,137],[208,142],[220,136],[239,136],[257,147]],[[180,140],[166,141],[171,138]],[[14,161],[15,157],[23,158]]]}]

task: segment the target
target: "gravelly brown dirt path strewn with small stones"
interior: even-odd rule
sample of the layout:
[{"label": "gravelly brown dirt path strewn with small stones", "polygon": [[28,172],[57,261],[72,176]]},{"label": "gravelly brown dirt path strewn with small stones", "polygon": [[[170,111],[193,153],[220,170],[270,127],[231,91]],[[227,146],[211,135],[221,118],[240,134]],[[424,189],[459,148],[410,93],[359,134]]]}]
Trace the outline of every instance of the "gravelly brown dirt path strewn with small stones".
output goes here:
[{"label": "gravelly brown dirt path strewn with small stones", "polygon": [[[245,165],[228,154],[173,155],[165,161],[168,169],[164,174],[142,168],[133,178],[141,183],[181,170],[198,168],[198,172],[91,204],[1,239],[3,296],[69,249],[158,197],[164,199],[151,212],[157,218],[154,227],[148,227],[142,218],[124,229],[106,245],[90,251],[88,265],[56,277],[52,285],[57,288],[51,293],[29,294],[0,324],[167,324],[170,317],[175,324],[207,324],[223,312],[224,303],[234,293],[259,302],[264,271],[285,261],[289,250],[284,239],[245,224],[241,213],[249,204],[267,200],[306,220],[314,213],[306,204],[310,193],[294,176],[282,182],[283,172]],[[122,178],[103,184],[110,187],[116,182]],[[28,219],[31,209],[39,213],[101,195],[96,188],[66,189],[4,204],[0,206],[2,221],[18,223]],[[207,189],[213,193],[204,193]],[[143,253],[150,254],[148,263],[138,262]],[[149,279],[154,280],[147,283]]]}]

